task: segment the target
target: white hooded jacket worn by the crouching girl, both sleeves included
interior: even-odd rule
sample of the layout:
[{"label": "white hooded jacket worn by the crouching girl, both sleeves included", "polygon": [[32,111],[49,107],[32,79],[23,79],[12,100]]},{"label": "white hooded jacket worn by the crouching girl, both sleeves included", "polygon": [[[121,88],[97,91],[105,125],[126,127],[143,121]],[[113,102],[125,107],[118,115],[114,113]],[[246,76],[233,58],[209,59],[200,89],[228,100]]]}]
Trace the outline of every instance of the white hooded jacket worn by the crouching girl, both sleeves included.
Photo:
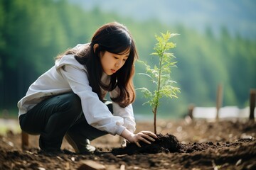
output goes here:
[{"label": "white hooded jacket worn by the crouching girl, both sleeves included", "polygon": [[[112,114],[92,91],[86,72],[85,67],[75,60],[74,55],[65,55],[60,60],[56,60],[55,66],[33,82],[26,96],[18,101],[18,116],[26,114],[49,96],[73,91],[81,99],[82,111],[87,123],[112,135],[121,135],[125,128],[134,132],[136,124],[132,104],[121,108],[118,103],[113,102]],[[104,73],[102,82],[110,82],[110,76]],[[118,88],[110,91],[110,96],[116,96],[118,91]],[[102,90],[102,92],[107,94],[107,91]]]}]

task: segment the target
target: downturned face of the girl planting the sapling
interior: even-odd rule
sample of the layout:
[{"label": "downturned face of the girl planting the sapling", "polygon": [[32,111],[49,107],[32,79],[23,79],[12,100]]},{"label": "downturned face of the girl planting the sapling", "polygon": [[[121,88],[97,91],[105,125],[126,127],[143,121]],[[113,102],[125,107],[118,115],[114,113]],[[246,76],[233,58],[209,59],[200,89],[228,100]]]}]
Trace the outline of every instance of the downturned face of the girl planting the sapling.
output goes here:
[{"label": "downturned face of the girl planting the sapling", "polygon": [[123,55],[116,55],[111,52],[100,52],[102,69],[107,75],[112,75],[120,69],[129,57],[129,50]]}]

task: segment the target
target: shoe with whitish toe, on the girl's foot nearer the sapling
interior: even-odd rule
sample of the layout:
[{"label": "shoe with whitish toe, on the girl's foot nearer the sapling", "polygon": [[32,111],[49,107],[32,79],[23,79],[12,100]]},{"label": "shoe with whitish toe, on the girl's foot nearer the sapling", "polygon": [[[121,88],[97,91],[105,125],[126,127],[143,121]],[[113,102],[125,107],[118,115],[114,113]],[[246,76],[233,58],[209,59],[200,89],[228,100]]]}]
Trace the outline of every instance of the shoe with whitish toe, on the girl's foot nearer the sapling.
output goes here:
[{"label": "shoe with whitish toe, on the girl's foot nearer the sapling", "polygon": [[77,154],[92,154],[96,148],[90,145],[90,140],[81,139],[78,135],[65,134],[65,139],[75,149]]}]

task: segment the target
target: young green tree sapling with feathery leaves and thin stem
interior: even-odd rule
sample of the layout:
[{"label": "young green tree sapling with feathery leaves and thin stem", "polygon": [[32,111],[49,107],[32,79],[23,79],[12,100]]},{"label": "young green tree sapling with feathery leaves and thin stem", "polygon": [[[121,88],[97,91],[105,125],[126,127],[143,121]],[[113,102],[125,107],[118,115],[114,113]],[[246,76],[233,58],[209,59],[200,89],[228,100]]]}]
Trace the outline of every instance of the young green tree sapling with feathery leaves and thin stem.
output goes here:
[{"label": "young green tree sapling with feathery leaves and thin stem", "polygon": [[156,35],[156,45],[154,46],[154,52],[151,55],[158,56],[159,62],[158,66],[154,65],[151,68],[146,62],[139,61],[146,67],[146,73],[139,73],[145,75],[151,79],[155,85],[154,91],[150,91],[146,87],[139,88],[144,94],[145,98],[148,98],[149,105],[152,107],[152,112],[154,113],[154,133],[156,134],[156,113],[159,107],[159,99],[162,97],[167,98],[178,98],[177,93],[180,93],[180,89],[174,84],[176,81],[171,80],[171,67],[176,67],[176,62],[171,60],[176,58],[173,53],[168,52],[171,48],[176,47],[174,42],[169,42],[170,38],[178,34],[171,34],[167,31],[166,34],[161,33],[161,35]]}]

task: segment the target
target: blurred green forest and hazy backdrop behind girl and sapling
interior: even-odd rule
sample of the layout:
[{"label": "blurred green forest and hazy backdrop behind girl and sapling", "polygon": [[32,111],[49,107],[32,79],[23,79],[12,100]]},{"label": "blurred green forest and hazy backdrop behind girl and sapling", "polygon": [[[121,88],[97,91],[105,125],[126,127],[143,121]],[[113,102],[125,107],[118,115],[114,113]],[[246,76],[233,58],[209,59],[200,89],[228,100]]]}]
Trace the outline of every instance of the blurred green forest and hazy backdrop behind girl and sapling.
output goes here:
[{"label": "blurred green forest and hazy backdrop behind girl and sapling", "polygon": [[[223,106],[248,106],[250,89],[256,87],[255,8],[253,0],[0,0],[0,112],[17,115],[16,103],[56,55],[89,42],[98,27],[112,21],[129,28],[139,59],[152,65],[154,35],[180,34],[172,39],[178,67],[171,77],[181,94],[163,98],[159,116],[178,118],[191,103],[215,106],[218,84]],[[136,72],[145,72],[144,67],[136,64]],[[136,74],[134,85],[150,88],[151,83]],[[136,116],[151,117],[145,101],[137,91]]]}]

